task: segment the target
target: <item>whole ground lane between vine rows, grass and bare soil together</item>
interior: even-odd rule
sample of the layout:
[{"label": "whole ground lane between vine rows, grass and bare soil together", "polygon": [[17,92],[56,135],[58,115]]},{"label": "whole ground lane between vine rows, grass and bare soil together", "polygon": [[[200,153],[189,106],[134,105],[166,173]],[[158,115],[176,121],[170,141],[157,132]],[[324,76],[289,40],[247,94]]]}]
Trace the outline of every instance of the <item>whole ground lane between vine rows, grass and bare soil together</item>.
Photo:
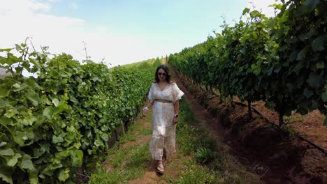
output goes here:
[{"label": "whole ground lane between vine rows, grass and bare soil together", "polygon": [[[246,108],[236,106],[232,111],[215,99],[200,105],[198,101],[205,101],[205,94],[171,69],[185,95],[181,100],[177,153],[168,155],[165,174],[156,174],[156,164],[148,152],[150,110],[119,137],[116,148],[110,149],[102,169],[92,174],[89,183],[326,183],[324,153],[296,137],[281,139],[279,132],[256,114],[248,121]],[[189,124],[187,129],[184,123]],[[201,135],[196,127],[203,128]],[[214,143],[210,139],[215,141],[219,157],[201,166],[194,159],[194,150],[203,139],[207,146],[208,142]]]}]

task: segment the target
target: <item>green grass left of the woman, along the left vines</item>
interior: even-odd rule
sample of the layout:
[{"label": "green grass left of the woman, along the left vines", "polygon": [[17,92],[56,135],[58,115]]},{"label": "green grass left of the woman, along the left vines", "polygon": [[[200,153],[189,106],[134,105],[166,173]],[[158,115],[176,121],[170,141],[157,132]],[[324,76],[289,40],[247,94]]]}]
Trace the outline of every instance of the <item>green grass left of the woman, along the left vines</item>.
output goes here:
[{"label": "green grass left of the woman, along the left vines", "polygon": [[[145,174],[145,162],[152,160],[149,153],[149,143],[122,146],[131,141],[137,141],[143,135],[151,135],[152,130],[143,121],[151,121],[150,113],[138,123],[130,126],[126,134],[109,149],[106,167],[98,163],[97,171],[91,175],[89,183],[127,183]],[[149,122],[147,122],[149,123]]]}]

